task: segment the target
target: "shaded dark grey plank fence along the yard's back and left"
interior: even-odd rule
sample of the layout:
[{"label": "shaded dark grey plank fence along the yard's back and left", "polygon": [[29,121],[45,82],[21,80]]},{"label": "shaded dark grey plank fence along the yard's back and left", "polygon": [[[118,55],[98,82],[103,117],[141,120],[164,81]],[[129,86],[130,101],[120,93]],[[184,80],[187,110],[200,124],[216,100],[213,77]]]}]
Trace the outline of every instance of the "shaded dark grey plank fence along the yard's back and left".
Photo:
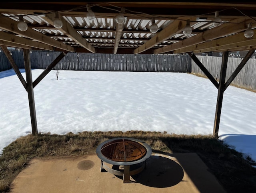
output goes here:
[{"label": "shaded dark grey plank fence along the yard's back and left", "polygon": [[[3,53],[2,53],[3,54]],[[46,69],[59,52],[33,51],[30,54],[32,69]],[[1,59],[5,57],[1,56]],[[12,57],[19,68],[24,68],[22,51],[12,51]],[[6,58],[6,57],[5,57]],[[1,61],[2,62],[2,61]],[[6,69],[11,66],[6,58],[2,62]],[[189,55],[135,55],[68,53],[55,67],[58,70],[82,71],[136,71],[136,72],[191,72]],[[2,70],[2,69],[1,69]]]}]

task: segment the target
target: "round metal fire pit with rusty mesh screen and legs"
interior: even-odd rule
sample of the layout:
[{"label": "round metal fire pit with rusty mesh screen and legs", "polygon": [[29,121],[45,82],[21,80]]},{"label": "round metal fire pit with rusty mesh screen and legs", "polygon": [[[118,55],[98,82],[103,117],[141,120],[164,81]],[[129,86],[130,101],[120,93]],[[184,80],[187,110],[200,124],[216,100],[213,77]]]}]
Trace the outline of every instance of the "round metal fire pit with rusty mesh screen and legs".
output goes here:
[{"label": "round metal fire pit with rusty mesh screen and legs", "polygon": [[[140,173],[146,167],[146,160],[151,156],[152,149],[141,140],[114,138],[100,144],[96,154],[101,160],[101,172],[105,169],[114,175],[123,176],[123,183],[129,183],[130,175]],[[108,167],[106,163],[113,167]],[[131,170],[130,165],[136,169]],[[119,166],[123,166],[123,169],[120,170]]]}]

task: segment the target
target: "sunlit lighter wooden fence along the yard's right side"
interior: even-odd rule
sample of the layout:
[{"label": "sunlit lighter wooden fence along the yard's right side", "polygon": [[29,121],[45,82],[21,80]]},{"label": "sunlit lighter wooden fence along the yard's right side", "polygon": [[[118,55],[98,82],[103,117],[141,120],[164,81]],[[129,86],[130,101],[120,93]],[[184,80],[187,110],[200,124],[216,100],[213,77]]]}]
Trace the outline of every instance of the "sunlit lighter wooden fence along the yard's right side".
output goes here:
[{"label": "sunlit lighter wooden fence along the yard's right side", "polygon": [[[220,80],[220,67],[222,57],[215,56],[197,56],[200,62],[206,67],[206,69],[212,74],[212,76],[219,81]],[[226,80],[232,75],[235,69],[238,67],[242,58],[228,57]],[[191,72],[206,77],[202,70],[192,60]],[[242,70],[238,73],[236,78],[232,81],[231,85],[256,91],[256,59],[250,58],[249,61],[244,65]]]}]

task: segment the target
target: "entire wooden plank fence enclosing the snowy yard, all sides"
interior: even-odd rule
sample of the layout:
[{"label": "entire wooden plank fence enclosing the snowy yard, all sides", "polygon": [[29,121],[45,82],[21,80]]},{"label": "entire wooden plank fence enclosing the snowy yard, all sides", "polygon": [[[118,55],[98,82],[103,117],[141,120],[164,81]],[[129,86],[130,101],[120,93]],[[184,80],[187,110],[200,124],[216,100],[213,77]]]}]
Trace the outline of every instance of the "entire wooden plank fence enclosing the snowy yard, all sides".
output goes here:
[{"label": "entire wooden plank fence enclosing the snowy yard, all sides", "polygon": [[[33,51],[30,54],[32,69],[46,69],[60,52]],[[222,57],[197,56],[212,76],[219,81]],[[24,69],[23,52],[12,51],[18,68]],[[234,72],[242,58],[228,57],[226,80]],[[11,69],[11,65],[0,52],[0,71]],[[182,72],[206,77],[189,55],[153,54],[100,54],[68,53],[54,67],[55,70],[82,71],[136,71],[136,72]],[[231,85],[256,91],[256,59],[251,58],[242,68]]]}]

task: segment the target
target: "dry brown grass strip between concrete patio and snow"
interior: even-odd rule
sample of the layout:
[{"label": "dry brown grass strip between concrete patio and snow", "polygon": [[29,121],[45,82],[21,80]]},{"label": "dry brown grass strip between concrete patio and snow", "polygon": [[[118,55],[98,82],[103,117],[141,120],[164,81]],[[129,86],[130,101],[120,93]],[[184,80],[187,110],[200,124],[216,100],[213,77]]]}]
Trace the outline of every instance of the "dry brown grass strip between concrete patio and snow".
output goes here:
[{"label": "dry brown grass strip between concrete patio and snow", "polygon": [[0,192],[10,184],[32,158],[44,156],[84,156],[94,154],[97,146],[111,138],[130,137],[145,141],[153,152],[195,152],[229,193],[254,193],[256,165],[236,150],[211,135],[176,135],[166,132],[81,132],[66,135],[38,134],[20,137],[4,148],[0,156]]}]

